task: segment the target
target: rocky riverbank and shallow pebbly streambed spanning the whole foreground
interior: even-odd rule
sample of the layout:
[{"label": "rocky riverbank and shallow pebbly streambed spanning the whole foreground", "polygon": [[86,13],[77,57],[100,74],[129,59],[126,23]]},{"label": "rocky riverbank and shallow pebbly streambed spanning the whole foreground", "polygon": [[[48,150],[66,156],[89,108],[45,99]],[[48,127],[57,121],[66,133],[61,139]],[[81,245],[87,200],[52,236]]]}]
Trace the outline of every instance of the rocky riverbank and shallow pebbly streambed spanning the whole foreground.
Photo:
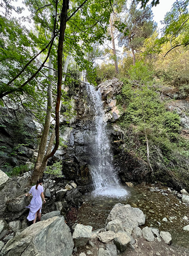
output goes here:
[{"label": "rocky riverbank and shallow pebbly streambed spanning the whole foreground", "polygon": [[189,255],[186,190],[177,192],[158,184],[132,187],[128,183],[128,198],[97,197],[90,201],[89,187],[46,179],[42,221],[29,226],[25,208],[29,201],[22,194],[29,190],[29,173],[18,178],[0,174],[4,209],[0,219],[1,256]]}]

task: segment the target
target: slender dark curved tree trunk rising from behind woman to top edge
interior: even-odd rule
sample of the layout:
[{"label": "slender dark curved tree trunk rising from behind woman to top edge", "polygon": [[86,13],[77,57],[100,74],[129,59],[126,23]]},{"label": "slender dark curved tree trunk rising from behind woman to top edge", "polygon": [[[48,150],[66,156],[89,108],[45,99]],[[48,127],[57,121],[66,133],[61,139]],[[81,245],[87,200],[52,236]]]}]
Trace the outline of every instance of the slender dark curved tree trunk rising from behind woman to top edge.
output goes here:
[{"label": "slender dark curved tree trunk rising from behind woman to top edge", "polygon": [[[60,137],[59,137],[60,113],[59,112],[60,112],[60,103],[61,103],[62,55],[63,55],[63,41],[64,41],[64,35],[65,35],[65,29],[66,29],[66,19],[67,19],[67,13],[68,13],[68,4],[69,4],[69,0],[63,0],[63,5],[62,5],[61,15],[60,15],[60,35],[58,39],[58,51],[57,51],[58,82],[57,82],[57,100],[56,100],[56,106],[55,106],[55,122],[56,122],[55,123],[55,140],[56,142],[53,150],[49,154],[47,152],[47,154],[44,156],[40,166],[37,166],[37,168],[34,169],[34,173],[32,175],[32,183],[35,183],[38,180],[38,178],[42,177],[43,172],[47,166],[48,159],[55,154],[60,142]],[[49,148],[47,151],[50,151]]]}]

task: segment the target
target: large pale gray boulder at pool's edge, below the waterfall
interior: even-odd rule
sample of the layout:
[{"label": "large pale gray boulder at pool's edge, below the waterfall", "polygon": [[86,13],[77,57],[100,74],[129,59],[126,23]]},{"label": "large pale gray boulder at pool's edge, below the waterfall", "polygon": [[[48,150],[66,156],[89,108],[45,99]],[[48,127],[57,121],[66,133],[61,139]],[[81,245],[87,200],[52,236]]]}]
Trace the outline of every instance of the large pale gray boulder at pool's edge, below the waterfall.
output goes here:
[{"label": "large pale gray boulder at pool's edge, below the waterfall", "polygon": [[117,203],[108,215],[106,225],[112,220],[121,221],[124,231],[131,235],[136,226],[144,225],[145,216],[139,208],[132,208],[131,205]]}]

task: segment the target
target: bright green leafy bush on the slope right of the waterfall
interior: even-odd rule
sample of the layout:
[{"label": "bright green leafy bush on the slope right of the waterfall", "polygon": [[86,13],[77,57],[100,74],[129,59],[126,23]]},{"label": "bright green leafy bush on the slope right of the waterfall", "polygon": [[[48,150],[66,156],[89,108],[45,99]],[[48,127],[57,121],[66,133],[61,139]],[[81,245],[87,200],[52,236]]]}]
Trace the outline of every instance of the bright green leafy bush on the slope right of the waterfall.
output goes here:
[{"label": "bright green leafy bush on the slope right of the waterfall", "polygon": [[161,149],[168,162],[173,152],[186,155],[189,145],[179,134],[180,118],[178,114],[166,110],[165,102],[161,101],[153,86],[153,72],[144,63],[136,63],[128,73],[131,80],[124,81],[121,95],[117,96],[124,111],[120,126],[125,130],[127,150],[146,159],[145,129],[151,155],[154,146]]}]

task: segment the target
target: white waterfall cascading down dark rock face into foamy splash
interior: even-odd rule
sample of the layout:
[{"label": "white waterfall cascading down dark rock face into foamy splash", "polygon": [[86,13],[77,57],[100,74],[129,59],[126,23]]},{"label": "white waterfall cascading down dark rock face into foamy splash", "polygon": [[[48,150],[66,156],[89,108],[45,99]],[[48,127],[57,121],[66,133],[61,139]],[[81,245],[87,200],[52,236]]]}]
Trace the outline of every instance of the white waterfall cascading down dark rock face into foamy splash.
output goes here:
[{"label": "white waterfall cascading down dark rock face into foamy splash", "polygon": [[111,197],[124,197],[128,192],[121,187],[118,177],[113,170],[112,154],[106,134],[106,122],[100,91],[86,83],[89,97],[89,108],[94,114],[94,134],[90,140],[89,168],[94,182],[94,194]]}]

